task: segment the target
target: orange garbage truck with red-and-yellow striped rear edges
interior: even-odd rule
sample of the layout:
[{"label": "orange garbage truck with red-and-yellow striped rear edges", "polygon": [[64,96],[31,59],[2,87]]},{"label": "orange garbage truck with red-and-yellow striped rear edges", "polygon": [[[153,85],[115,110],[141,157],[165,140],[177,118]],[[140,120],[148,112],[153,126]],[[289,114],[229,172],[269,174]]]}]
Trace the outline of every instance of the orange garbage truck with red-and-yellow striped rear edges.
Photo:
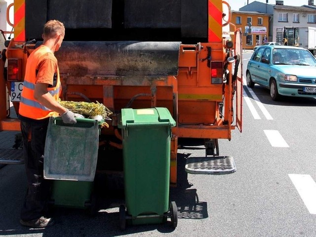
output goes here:
[{"label": "orange garbage truck with red-and-yellow striped rear edges", "polygon": [[[128,119],[122,114],[132,112],[123,110],[165,108],[175,121],[167,146],[170,185],[177,184],[182,138],[201,139],[205,146],[204,159],[183,167],[188,173],[236,170],[233,157],[219,153],[219,140],[231,140],[234,129],[242,131],[242,32],[230,22],[228,2],[14,0],[8,8],[14,10],[13,19],[9,10],[6,16],[13,30],[0,34],[1,131],[20,130],[16,114],[26,62],[42,43],[43,25],[56,19],[66,28],[55,52],[62,100],[98,102],[113,112],[98,141],[99,150],[110,150],[107,160],[117,160],[113,149],[124,151],[127,131],[121,120]],[[0,162],[23,162],[18,150],[2,149]],[[98,157],[96,172],[108,170],[107,162],[99,165],[103,158]]]}]

